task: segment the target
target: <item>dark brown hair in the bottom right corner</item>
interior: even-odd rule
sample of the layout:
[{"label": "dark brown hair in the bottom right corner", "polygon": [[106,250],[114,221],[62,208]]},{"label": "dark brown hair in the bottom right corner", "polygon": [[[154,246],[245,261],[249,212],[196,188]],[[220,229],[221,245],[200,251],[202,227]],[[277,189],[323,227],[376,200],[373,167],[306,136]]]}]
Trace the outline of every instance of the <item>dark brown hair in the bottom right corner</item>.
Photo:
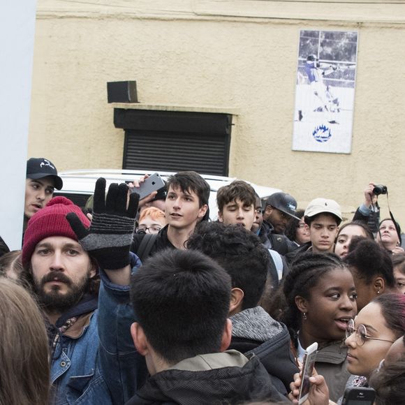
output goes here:
[{"label": "dark brown hair in the bottom right corner", "polygon": [[405,357],[384,364],[383,368],[371,374],[369,385],[376,390],[376,405],[405,403]]}]

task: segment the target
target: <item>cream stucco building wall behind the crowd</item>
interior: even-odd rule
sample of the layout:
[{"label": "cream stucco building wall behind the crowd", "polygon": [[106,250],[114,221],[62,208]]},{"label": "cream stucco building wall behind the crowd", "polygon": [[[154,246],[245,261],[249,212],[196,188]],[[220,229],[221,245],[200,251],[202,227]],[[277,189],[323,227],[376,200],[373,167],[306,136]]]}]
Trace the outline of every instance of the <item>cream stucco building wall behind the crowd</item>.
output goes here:
[{"label": "cream stucco building wall behind the crowd", "polygon": [[[291,151],[300,29],[359,32],[351,154]],[[38,0],[29,156],[121,168],[106,82],[137,80],[142,103],[239,111],[230,175],[345,212],[374,179],[405,228],[404,60],[405,3]]]}]

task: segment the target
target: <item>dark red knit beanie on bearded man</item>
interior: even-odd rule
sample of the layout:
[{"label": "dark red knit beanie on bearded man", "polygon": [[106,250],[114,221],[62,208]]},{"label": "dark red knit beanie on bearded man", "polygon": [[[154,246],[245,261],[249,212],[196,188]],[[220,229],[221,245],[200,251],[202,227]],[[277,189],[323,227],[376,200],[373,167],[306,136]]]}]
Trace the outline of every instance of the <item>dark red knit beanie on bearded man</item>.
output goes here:
[{"label": "dark red knit beanie on bearded man", "polygon": [[22,265],[25,269],[29,267],[32,253],[35,246],[50,236],[66,236],[77,241],[78,237],[73,232],[66,219],[66,214],[75,212],[86,228],[89,228],[90,221],[78,207],[66,197],[55,197],[47,203],[46,207],[40,209],[28,221],[27,230],[24,233],[22,244]]}]

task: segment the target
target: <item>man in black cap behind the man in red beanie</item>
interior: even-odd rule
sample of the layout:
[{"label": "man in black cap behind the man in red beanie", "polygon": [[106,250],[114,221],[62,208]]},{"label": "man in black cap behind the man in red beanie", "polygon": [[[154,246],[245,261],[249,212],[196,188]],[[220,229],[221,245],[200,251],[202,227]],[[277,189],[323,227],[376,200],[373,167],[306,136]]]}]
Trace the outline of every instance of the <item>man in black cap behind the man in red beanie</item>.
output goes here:
[{"label": "man in black cap behind the man in red beanie", "polygon": [[54,189],[60,190],[64,183],[58,176],[55,165],[45,158],[31,158],[27,161],[25,180],[24,230],[27,222],[36,212],[47,205]]}]

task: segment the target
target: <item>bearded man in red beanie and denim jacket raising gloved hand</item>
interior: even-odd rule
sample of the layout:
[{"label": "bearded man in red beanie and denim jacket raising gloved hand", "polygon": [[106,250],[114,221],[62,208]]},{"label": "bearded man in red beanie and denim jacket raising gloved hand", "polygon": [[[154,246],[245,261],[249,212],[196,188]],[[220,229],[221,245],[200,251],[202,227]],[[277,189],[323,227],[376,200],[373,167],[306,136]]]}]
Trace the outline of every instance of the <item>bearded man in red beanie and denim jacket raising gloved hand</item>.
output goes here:
[{"label": "bearded man in red beanie and denim jacket raising gloved hand", "polygon": [[91,224],[64,197],[28,223],[23,274],[49,324],[55,404],[123,404],[146,377],[130,332],[128,285],[140,260],[129,251],[138,196],[127,209],[127,193],[126,184],[112,184],[105,200],[98,179]]}]

